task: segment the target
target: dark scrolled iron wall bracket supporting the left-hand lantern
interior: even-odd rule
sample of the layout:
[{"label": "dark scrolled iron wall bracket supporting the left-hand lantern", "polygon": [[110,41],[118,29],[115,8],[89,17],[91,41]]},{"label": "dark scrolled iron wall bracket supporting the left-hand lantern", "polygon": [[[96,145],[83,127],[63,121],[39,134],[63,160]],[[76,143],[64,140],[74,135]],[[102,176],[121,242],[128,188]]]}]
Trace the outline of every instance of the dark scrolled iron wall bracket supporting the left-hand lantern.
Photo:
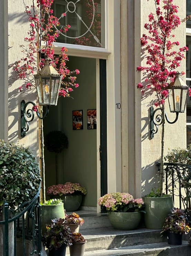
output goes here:
[{"label": "dark scrolled iron wall bracket supporting the left-hand lantern", "polygon": [[[29,123],[34,120],[34,111],[31,109],[28,109],[26,112],[27,106],[31,104],[35,106],[36,104],[32,101],[25,102],[24,100],[21,101],[21,137],[24,138],[26,136],[26,132],[29,130]],[[36,114],[39,119],[44,119],[47,117],[49,113],[49,106],[46,106],[46,112],[45,114],[41,117],[40,113],[37,111]],[[30,118],[27,120],[27,118]]]}]

